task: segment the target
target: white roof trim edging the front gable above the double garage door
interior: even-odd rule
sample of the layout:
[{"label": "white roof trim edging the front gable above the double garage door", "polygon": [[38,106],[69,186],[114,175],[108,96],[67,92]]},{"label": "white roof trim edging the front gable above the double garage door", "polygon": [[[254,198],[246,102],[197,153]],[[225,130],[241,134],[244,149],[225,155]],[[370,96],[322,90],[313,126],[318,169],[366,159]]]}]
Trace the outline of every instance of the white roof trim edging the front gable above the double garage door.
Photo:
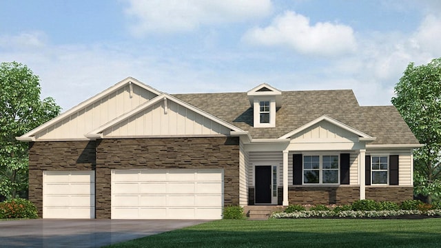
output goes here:
[{"label": "white roof trim edging the front gable above the double garage door", "polygon": [[130,112],[127,112],[126,114],[123,114],[122,116],[119,116],[119,118],[116,118],[113,121],[105,123],[105,125],[102,125],[101,127],[96,128],[92,132],[85,134],[85,136],[88,138],[92,138],[92,139],[93,138],[103,138],[103,136],[101,135],[101,133],[103,131],[107,130],[108,128],[110,128],[114,125],[117,125],[118,123],[121,123],[122,121],[127,120],[127,118],[135,116],[136,114],[142,112],[143,110],[147,109],[148,107],[151,107],[152,105],[154,105],[160,101],[164,101],[165,99],[167,99],[167,101],[174,101],[175,103],[178,103],[178,105],[186,107],[187,109],[192,110],[192,111],[196,112],[197,114],[201,114],[205,118],[208,118],[211,121],[214,121],[220,125],[223,125],[234,132],[245,132],[244,130],[241,130],[240,128],[238,128],[238,127],[236,127],[226,121],[223,121],[222,119],[217,118],[216,116],[213,116],[212,114],[209,114],[207,112],[199,110],[198,108],[196,108],[192,105],[189,105],[188,103],[185,103],[184,101],[181,101],[180,99],[177,99],[176,97],[171,96],[170,94],[163,93],[163,94],[156,96],[154,99],[147,101],[146,103],[143,103],[142,105],[139,105],[139,107],[136,107],[136,109],[134,109]]}]

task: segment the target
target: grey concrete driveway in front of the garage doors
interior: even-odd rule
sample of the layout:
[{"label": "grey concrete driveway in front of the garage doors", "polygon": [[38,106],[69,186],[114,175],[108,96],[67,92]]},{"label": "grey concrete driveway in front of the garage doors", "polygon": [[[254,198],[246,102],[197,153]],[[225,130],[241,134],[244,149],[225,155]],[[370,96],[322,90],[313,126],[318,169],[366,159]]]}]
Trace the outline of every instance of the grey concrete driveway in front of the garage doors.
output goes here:
[{"label": "grey concrete driveway in front of the garage doors", "polygon": [[0,221],[0,247],[101,247],[207,220]]}]

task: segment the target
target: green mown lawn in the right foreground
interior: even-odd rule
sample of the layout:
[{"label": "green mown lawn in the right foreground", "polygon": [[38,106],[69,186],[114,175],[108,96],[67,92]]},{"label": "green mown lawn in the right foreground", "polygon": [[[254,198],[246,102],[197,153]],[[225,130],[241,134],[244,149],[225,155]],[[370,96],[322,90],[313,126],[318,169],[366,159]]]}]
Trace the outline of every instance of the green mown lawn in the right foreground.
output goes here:
[{"label": "green mown lawn in the right foreground", "polygon": [[441,247],[441,218],[216,220],[111,247]]}]

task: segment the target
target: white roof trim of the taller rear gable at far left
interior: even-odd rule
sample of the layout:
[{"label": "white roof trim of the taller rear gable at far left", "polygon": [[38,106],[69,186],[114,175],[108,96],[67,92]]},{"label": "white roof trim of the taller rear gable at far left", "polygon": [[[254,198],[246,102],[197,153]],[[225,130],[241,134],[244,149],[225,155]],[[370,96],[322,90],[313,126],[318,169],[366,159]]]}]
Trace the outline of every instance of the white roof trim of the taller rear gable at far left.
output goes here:
[{"label": "white roof trim of the taller rear gable at far left", "polygon": [[88,105],[91,105],[96,101],[99,101],[99,99],[102,99],[104,96],[112,94],[113,92],[116,92],[121,87],[125,87],[126,85],[130,85],[130,89],[131,89],[130,95],[131,95],[132,94],[132,84],[138,85],[139,87],[141,87],[149,92],[152,92],[156,95],[162,94],[162,92],[154,89],[153,87],[150,87],[149,85],[145,85],[144,83],[141,83],[141,81],[138,81],[137,79],[134,79],[129,76],[126,79],[123,79],[122,81],[120,81],[119,83],[116,83],[112,87],[107,88],[103,92],[96,94],[95,96],[92,96],[90,99],[85,100],[82,103],[79,103],[79,105],[72,107],[70,110],[63,112],[59,116],[44,123],[43,125],[36,127],[34,130],[31,130],[30,132],[23,134],[20,137],[17,137],[17,140],[19,140],[19,141],[34,141],[33,136],[35,134],[37,134],[38,132],[45,130],[47,127],[50,127],[51,125],[54,125],[55,123],[58,123],[59,121],[62,121],[64,118],[70,116],[71,114],[74,114],[75,112],[78,112],[79,110],[83,109],[84,107],[87,107]]}]

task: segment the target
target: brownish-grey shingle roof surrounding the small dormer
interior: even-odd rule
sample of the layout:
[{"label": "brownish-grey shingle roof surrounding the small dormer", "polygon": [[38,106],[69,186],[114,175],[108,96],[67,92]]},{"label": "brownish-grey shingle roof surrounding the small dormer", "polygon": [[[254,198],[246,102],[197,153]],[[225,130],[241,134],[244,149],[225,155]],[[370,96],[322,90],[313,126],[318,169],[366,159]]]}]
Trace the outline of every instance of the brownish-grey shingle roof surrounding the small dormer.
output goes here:
[{"label": "brownish-grey shingle roof surrounding the small dormer", "polygon": [[253,109],[246,92],[173,96],[248,131],[253,138],[278,138],[326,114],[376,137],[372,145],[418,144],[395,107],[360,106],[352,90],[282,92],[276,127],[253,127]]}]

